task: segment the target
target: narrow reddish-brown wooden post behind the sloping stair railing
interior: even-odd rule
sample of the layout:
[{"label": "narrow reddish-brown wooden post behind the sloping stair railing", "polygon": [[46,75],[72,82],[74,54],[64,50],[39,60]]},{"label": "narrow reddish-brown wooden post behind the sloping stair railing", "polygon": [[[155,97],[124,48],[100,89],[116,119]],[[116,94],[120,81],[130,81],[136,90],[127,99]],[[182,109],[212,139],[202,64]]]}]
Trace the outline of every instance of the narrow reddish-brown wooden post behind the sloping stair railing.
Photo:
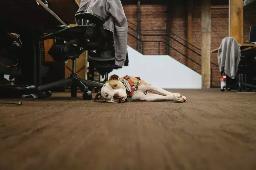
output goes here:
[{"label": "narrow reddish-brown wooden post behind the sloping stair railing", "polygon": [[[187,0],[187,46],[192,49],[192,9],[193,0]],[[190,43],[190,44],[189,44]],[[187,57],[192,59],[192,51],[187,48]],[[186,65],[191,66],[191,61],[186,59]]]}]

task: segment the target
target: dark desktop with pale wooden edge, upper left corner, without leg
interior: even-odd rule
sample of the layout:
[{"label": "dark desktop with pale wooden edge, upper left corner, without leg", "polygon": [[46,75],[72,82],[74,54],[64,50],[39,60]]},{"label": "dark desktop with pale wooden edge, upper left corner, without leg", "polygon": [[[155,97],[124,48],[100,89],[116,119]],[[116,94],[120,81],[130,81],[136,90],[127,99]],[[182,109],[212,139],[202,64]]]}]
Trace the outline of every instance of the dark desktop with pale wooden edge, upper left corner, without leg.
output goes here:
[{"label": "dark desktop with pale wooden edge, upper left corner, without leg", "polygon": [[0,18],[18,27],[16,29],[42,33],[51,32],[57,25],[67,25],[40,0],[1,1]]}]

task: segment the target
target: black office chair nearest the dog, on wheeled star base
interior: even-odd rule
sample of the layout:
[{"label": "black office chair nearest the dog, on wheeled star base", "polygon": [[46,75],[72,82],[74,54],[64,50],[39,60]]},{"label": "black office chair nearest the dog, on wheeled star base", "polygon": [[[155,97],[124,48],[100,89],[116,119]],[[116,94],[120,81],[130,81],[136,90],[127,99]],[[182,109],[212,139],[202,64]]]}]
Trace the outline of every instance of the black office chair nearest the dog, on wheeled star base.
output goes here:
[{"label": "black office chair nearest the dog, on wheeled star base", "polygon": [[[76,59],[79,58],[80,54],[85,50],[105,51],[108,49],[108,42],[110,41],[108,40],[103,28],[105,20],[102,17],[89,12],[79,12],[76,14],[75,18],[78,26],[69,27],[59,25],[59,31],[39,37],[39,41],[47,39],[61,39],[63,41],[67,41],[67,44],[54,44],[48,53],[55,60],[64,61],[71,59],[72,73],[69,78],[38,86],[38,90],[45,91],[46,89],[53,87],[70,86],[71,97],[77,97],[77,88],[80,88],[81,92],[83,92],[83,99],[90,100],[92,99],[92,93],[88,90],[88,87],[101,88],[104,84],[79,78],[75,70]],[[91,23],[94,23],[94,26],[82,25],[83,20],[89,20]]]}]

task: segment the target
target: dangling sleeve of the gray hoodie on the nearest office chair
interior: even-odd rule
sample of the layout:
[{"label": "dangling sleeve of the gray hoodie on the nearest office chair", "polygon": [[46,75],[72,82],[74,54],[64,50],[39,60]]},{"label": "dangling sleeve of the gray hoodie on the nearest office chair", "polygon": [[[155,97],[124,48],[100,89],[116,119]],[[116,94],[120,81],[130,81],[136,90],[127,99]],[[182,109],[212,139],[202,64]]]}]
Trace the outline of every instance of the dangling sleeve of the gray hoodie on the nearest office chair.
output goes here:
[{"label": "dangling sleeve of the gray hoodie on the nearest office chair", "polygon": [[115,64],[124,66],[127,53],[127,19],[120,0],[107,0],[106,12],[115,18]]}]

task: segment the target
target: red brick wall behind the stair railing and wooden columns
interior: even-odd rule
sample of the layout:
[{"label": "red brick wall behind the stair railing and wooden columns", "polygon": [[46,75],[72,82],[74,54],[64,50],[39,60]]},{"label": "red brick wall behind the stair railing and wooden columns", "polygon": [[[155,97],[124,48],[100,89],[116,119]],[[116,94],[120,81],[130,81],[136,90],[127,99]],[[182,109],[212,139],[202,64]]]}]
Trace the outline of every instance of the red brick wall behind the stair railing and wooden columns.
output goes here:
[{"label": "red brick wall behind the stair railing and wooden columns", "polygon": [[[201,49],[201,4],[199,1],[195,1],[192,12],[192,44]],[[224,1],[222,1],[224,2]],[[225,2],[226,3],[226,2]],[[216,5],[216,4],[213,4]],[[225,5],[225,4],[221,4]],[[244,42],[248,42],[249,39],[249,27],[256,25],[256,3],[248,5],[244,8]],[[125,15],[127,20],[135,25],[129,24],[129,26],[136,29],[137,25],[137,5],[124,5]],[[187,6],[184,1],[175,1],[175,4],[171,5],[171,18],[170,18],[170,29],[171,32],[178,35],[182,39],[187,40]],[[166,29],[166,6],[164,5],[141,5],[141,29],[143,34],[164,34],[165,31],[159,29]],[[147,31],[150,29],[158,29],[158,31]],[[135,37],[137,34],[135,31],[129,29],[128,31]],[[172,35],[172,34],[171,34]],[[172,35],[175,39],[183,42],[181,39]],[[228,9],[211,9],[211,49],[218,48],[221,40],[224,37],[228,37]],[[142,37],[143,41],[165,41],[164,37]],[[185,43],[185,42],[183,42]],[[137,41],[131,35],[128,35],[128,45],[134,49],[137,49]],[[184,46],[180,45],[176,41],[170,39],[170,45],[177,49],[182,54],[187,55],[187,50]],[[160,54],[165,54],[165,44],[160,43]],[[157,42],[145,42],[143,43],[143,53],[145,55],[157,55],[158,54],[158,43]],[[193,48],[195,49],[195,48]],[[199,54],[200,51],[196,50]],[[177,59],[181,63],[188,65],[191,69],[201,73],[201,67],[192,62],[187,62],[186,58],[170,49],[170,56]],[[201,63],[200,56],[192,53],[190,56],[194,61]],[[211,54],[211,61],[218,64],[217,56]],[[220,73],[218,67],[212,65],[213,70],[213,86],[220,86],[219,78]]]}]

